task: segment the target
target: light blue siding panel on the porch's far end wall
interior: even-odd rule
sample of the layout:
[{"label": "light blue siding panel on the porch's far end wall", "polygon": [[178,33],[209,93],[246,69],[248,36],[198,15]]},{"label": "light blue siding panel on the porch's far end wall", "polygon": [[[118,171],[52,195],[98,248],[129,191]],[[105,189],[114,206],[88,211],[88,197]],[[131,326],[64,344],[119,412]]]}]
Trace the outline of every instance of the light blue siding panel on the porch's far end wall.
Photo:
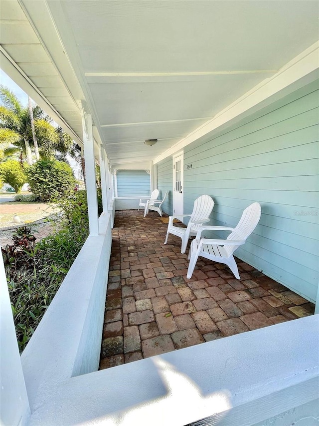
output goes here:
[{"label": "light blue siding panel on the porch's far end wall", "polygon": [[118,170],[118,197],[151,195],[150,175],[145,170]]}]

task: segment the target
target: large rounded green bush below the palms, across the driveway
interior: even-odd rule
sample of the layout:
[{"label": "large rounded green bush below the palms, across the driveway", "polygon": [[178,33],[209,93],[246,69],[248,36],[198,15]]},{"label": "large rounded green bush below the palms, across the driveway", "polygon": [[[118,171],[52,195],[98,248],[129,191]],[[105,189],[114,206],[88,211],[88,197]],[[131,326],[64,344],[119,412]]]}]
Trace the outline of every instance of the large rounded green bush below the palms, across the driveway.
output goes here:
[{"label": "large rounded green bush below the palms, across the driveway", "polygon": [[43,202],[61,199],[74,189],[73,171],[61,161],[39,160],[27,167],[26,174],[32,193]]}]

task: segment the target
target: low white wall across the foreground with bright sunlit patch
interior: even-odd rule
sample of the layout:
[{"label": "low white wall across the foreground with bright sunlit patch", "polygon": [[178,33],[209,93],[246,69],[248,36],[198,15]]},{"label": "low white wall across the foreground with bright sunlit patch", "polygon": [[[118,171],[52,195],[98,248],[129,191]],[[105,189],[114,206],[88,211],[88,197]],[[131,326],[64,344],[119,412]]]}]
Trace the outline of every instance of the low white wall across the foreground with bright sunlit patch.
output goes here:
[{"label": "low white wall across the foreground with bright sunlit patch", "polygon": [[247,426],[297,408],[296,420],[300,406],[318,399],[318,327],[312,316],[69,380],[50,378],[33,401],[30,425],[183,426],[213,416],[211,424]]}]

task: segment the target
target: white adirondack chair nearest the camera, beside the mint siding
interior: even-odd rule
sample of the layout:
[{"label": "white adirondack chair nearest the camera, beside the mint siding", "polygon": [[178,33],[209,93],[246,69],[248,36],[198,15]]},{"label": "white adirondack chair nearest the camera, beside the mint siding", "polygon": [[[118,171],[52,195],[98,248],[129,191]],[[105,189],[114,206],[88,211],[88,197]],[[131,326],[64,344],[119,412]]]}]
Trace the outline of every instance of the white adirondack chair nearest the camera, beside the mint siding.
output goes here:
[{"label": "white adirondack chair nearest the camera, beside the mint siding", "polygon": [[[191,242],[188,259],[189,265],[187,278],[191,278],[198,256],[213,260],[214,262],[226,264],[235,277],[240,280],[238,268],[233,256],[234,251],[242,244],[256,228],[261,215],[259,203],[253,203],[244,211],[236,228],[227,226],[201,226],[198,229],[196,238]],[[223,230],[232,231],[226,240],[200,238],[202,231]]]}]

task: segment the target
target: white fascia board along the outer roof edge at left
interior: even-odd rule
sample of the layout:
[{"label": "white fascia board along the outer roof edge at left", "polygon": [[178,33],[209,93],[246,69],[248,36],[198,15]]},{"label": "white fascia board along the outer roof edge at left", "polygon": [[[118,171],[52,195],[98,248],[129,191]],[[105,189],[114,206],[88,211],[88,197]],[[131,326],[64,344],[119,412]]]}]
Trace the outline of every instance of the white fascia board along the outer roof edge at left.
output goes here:
[{"label": "white fascia board along the outer roof edge at left", "polygon": [[28,76],[13,61],[7,52],[0,46],[1,69],[39,105],[71,138],[83,147],[83,141],[58,113],[54,106],[42,95]]}]

